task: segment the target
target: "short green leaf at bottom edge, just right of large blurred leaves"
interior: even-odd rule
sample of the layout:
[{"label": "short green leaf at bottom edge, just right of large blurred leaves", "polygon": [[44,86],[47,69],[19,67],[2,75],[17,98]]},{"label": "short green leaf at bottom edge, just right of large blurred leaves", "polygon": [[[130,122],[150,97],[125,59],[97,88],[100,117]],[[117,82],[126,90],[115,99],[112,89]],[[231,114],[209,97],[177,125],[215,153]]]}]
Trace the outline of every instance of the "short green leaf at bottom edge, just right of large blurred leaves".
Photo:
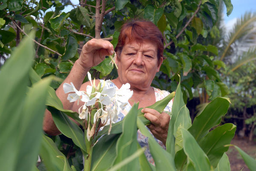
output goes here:
[{"label": "short green leaf at bottom edge, just right of large blurred leaves", "polygon": [[[43,135],[39,155],[48,171],[63,171],[65,163],[68,163],[66,157],[61,153],[61,151],[58,150],[52,139],[45,135]],[[64,158],[61,159],[59,156]],[[67,167],[69,167],[69,165],[67,165]]]}]

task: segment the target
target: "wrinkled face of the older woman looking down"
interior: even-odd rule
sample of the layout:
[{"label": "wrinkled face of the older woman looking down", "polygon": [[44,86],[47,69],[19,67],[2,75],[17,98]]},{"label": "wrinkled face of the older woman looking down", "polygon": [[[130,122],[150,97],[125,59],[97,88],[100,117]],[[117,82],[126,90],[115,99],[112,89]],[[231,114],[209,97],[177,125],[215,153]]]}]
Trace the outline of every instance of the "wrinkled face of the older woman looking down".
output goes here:
[{"label": "wrinkled face of the older woman looking down", "polygon": [[[127,42],[127,40],[126,40]],[[163,62],[157,60],[157,46],[151,41],[128,42],[122,49],[118,65],[118,76],[122,83],[131,86],[150,86],[155,74]]]}]

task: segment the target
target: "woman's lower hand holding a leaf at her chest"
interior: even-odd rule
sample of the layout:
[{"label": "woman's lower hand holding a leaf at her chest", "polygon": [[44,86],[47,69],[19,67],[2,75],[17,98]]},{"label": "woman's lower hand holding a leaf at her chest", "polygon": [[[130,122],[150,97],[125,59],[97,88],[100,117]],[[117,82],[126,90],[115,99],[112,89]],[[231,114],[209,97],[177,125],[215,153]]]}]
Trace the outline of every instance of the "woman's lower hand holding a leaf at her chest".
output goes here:
[{"label": "woman's lower hand holding a leaf at her chest", "polygon": [[169,114],[162,112],[161,114],[152,108],[143,108],[144,117],[147,118],[151,124],[147,125],[154,137],[162,141],[166,145],[168,135],[168,127],[170,122]]}]

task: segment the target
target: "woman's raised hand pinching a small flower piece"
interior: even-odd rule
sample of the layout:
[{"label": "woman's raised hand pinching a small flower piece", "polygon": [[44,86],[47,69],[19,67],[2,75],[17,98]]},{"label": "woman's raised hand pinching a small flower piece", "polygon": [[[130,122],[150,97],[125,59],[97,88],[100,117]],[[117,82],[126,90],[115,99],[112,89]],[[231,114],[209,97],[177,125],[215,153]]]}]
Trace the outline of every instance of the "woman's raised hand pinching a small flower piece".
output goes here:
[{"label": "woman's raised hand pinching a small flower piece", "polygon": [[113,53],[113,45],[108,40],[91,39],[84,44],[78,63],[82,67],[90,69],[101,63],[105,56],[112,55]]}]

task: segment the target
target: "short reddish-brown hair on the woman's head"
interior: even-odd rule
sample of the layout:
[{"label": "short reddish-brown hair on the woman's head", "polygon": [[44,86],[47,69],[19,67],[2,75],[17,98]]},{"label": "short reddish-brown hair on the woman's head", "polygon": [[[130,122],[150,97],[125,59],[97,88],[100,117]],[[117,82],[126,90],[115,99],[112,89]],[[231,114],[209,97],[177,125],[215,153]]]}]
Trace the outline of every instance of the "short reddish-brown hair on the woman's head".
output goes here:
[{"label": "short reddish-brown hair on the woman's head", "polygon": [[115,51],[118,56],[122,52],[125,40],[128,37],[129,42],[149,40],[157,45],[157,59],[163,57],[163,35],[161,31],[151,21],[147,20],[130,20],[123,24],[116,45]]}]

